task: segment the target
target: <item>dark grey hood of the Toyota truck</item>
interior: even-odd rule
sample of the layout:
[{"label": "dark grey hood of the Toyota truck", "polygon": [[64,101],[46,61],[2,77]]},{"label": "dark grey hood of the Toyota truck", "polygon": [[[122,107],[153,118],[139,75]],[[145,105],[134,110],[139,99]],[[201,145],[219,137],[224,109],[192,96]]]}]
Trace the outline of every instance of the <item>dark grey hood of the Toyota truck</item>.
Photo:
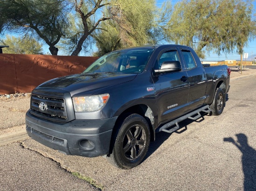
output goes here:
[{"label": "dark grey hood of the Toyota truck", "polygon": [[71,96],[91,92],[131,81],[137,74],[82,73],[63,76],[42,83],[38,88],[57,88],[70,92]]}]

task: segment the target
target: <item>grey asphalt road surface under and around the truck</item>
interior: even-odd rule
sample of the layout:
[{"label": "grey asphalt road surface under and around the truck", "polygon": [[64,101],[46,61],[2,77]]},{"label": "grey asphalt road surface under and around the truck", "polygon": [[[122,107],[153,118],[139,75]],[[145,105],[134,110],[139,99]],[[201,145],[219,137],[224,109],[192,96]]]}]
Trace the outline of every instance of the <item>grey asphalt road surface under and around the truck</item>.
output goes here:
[{"label": "grey asphalt road surface under and around the truck", "polygon": [[103,157],[66,156],[27,139],[0,147],[0,190],[256,191],[256,75],[231,78],[222,115],[158,133],[140,166],[119,170]]}]

